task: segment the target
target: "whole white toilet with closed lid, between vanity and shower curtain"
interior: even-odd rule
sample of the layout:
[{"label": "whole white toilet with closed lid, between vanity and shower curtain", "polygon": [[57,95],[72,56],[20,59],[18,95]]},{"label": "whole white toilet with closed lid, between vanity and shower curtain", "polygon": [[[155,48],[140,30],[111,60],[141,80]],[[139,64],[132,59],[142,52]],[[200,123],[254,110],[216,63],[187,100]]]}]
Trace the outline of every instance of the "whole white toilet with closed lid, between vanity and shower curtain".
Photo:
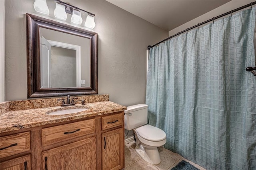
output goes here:
[{"label": "whole white toilet with closed lid, between vanity and shower curtain", "polygon": [[166,133],[161,129],[147,125],[148,105],[128,106],[124,111],[124,129],[133,130],[136,137],[136,152],[150,164],[161,162],[158,147],[166,143]]}]

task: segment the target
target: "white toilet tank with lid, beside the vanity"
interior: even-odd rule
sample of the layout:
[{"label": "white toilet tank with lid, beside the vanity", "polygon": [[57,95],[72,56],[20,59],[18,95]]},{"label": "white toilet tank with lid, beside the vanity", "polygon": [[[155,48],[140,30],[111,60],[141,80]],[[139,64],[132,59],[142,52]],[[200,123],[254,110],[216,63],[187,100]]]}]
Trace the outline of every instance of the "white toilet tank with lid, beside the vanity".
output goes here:
[{"label": "white toilet tank with lid, beside the vanity", "polygon": [[130,131],[148,123],[148,105],[128,106],[124,111],[124,129]]}]

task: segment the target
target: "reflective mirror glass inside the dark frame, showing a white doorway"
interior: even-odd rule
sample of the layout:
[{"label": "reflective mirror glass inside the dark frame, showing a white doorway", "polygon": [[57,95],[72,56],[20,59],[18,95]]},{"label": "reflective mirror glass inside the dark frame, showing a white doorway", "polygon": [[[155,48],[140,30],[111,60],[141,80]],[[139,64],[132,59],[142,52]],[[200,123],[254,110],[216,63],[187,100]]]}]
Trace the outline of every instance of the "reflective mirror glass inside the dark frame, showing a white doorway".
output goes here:
[{"label": "reflective mirror glass inside the dark frame, showing a white doorway", "polygon": [[88,38],[40,27],[40,87],[90,87],[89,47]]}]

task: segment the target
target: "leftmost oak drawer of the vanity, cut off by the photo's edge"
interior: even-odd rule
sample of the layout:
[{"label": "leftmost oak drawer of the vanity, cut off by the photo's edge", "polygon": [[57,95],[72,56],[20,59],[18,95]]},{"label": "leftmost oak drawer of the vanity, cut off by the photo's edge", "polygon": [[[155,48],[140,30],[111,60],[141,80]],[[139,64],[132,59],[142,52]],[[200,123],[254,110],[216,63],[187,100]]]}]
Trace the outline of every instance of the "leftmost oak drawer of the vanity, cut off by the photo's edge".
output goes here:
[{"label": "leftmost oak drawer of the vanity, cut off by the photo's edge", "polygon": [[0,158],[30,150],[30,132],[0,137]]}]

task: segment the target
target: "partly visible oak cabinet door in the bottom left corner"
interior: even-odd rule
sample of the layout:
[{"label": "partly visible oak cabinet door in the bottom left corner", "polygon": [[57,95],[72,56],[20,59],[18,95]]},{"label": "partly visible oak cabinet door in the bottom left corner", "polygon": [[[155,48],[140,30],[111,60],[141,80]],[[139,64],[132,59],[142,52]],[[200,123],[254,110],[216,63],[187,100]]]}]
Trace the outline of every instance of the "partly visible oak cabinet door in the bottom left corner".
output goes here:
[{"label": "partly visible oak cabinet door in the bottom left corner", "polygon": [[31,170],[30,155],[7,160],[0,164],[0,170]]}]

